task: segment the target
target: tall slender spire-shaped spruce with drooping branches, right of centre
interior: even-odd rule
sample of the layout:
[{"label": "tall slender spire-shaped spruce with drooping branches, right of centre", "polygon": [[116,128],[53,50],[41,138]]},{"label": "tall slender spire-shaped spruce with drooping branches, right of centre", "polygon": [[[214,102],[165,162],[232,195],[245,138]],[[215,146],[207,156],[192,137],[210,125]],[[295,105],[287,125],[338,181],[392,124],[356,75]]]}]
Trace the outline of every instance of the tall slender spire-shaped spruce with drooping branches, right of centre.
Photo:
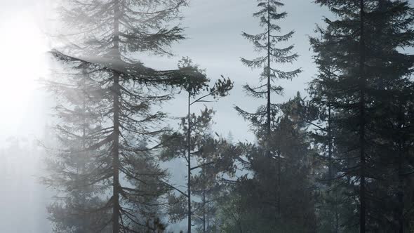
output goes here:
[{"label": "tall slender spire-shaped spruce with drooping branches, right of centre", "polygon": [[[289,218],[288,215],[283,216],[284,211],[282,210],[283,203],[287,203],[288,201],[282,200],[281,198],[283,193],[288,189],[288,187],[283,187],[283,182],[286,182],[286,180],[283,180],[282,178],[284,176],[282,171],[285,171],[285,168],[290,165],[285,162],[287,161],[286,158],[282,158],[281,145],[277,141],[279,138],[276,138],[276,130],[280,126],[279,124],[281,124],[279,121],[279,117],[281,117],[281,105],[272,102],[271,97],[272,93],[278,95],[283,93],[283,88],[276,83],[278,80],[293,79],[301,72],[301,69],[284,71],[281,68],[282,65],[292,63],[298,58],[298,54],[292,52],[293,46],[281,47],[293,36],[294,32],[291,31],[286,34],[276,34],[277,32],[281,32],[281,28],[274,22],[286,18],[287,16],[286,12],[279,10],[281,6],[283,6],[283,4],[279,1],[259,1],[258,8],[260,8],[260,11],[254,13],[253,16],[260,19],[260,26],[264,29],[264,32],[260,34],[248,34],[243,32],[242,34],[243,37],[253,43],[255,51],[260,53],[260,57],[253,60],[242,58],[241,62],[248,67],[262,68],[263,70],[260,74],[260,84],[258,86],[246,85],[244,86],[245,91],[248,95],[253,96],[253,98],[264,98],[266,104],[258,107],[254,113],[236,107],[239,114],[241,114],[244,119],[250,121],[253,132],[258,140],[259,147],[255,149],[253,148],[251,153],[256,154],[257,157],[259,157],[258,152],[265,153],[265,157],[261,157],[263,159],[261,166],[267,166],[267,168],[252,167],[250,163],[253,161],[247,161],[246,164],[248,164],[248,169],[253,169],[252,171],[254,171],[257,177],[255,177],[254,180],[245,181],[257,182],[255,184],[258,185],[257,188],[260,187],[263,189],[260,193],[274,195],[273,197],[269,196],[262,198],[267,200],[266,205],[262,203],[262,207],[267,208],[267,211],[263,215],[258,214],[263,217],[262,220],[272,219],[272,222],[279,222],[273,225],[268,225],[270,228],[267,230],[272,231],[281,227],[280,223],[283,222],[285,218]],[[248,155],[248,159],[254,159],[252,154]],[[286,176],[286,178],[287,177],[288,176]],[[301,177],[300,179],[302,178],[306,179],[305,177]],[[274,182],[269,182],[270,180],[268,179],[273,180]],[[248,188],[248,185],[246,188]],[[284,188],[286,188],[286,190],[283,190]],[[247,192],[247,189],[245,191]],[[259,190],[255,192],[258,191]]]}]

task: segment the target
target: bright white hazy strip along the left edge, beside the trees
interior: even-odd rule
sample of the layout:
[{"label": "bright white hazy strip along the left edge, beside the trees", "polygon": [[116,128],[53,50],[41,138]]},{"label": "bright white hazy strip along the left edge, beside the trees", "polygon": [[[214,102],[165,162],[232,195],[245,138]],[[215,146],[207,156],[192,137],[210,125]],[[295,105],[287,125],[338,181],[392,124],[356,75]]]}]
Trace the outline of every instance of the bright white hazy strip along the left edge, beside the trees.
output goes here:
[{"label": "bright white hazy strip along the left edge, beside the trees", "polygon": [[[35,1],[32,1],[34,3]],[[0,1],[0,226],[2,232],[48,232],[39,185],[39,138],[46,101],[36,79],[47,73],[41,18],[29,1]],[[15,140],[11,137],[28,138]]]}]

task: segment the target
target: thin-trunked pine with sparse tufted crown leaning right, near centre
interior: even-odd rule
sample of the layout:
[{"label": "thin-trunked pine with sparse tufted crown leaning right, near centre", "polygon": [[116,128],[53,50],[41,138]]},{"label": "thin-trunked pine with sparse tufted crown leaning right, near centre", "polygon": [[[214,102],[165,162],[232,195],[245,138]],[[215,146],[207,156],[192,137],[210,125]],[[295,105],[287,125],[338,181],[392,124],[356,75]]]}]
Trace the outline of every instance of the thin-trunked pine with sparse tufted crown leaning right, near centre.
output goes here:
[{"label": "thin-trunked pine with sparse tufted crown leaning right, near centre", "polygon": [[[180,69],[187,69],[190,67],[196,70],[199,69],[198,65],[194,65],[189,58],[183,58],[179,63]],[[205,130],[211,124],[211,114],[213,114],[212,110],[205,109],[205,111],[201,112],[201,116],[196,116],[191,113],[191,106],[197,102],[210,102],[210,100],[206,100],[208,97],[220,98],[229,95],[229,91],[233,88],[232,81],[230,81],[230,79],[225,79],[223,76],[222,79],[218,79],[211,88],[208,86],[208,81],[208,79],[197,80],[192,76],[185,77],[182,88],[185,89],[188,95],[188,114],[186,118],[182,119],[180,124],[183,133],[174,133],[173,135],[166,134],[163,135],[162,140],[163,145],[166,145],[166,152],[164,152],[164,154],[166,154],[167,157],[184,157],[185,161],[187,161],[187,194],[180,189],[171,186],[187,199],[187,232],[191,232],[192,230],[192,215],[194,215],[194,210],[192,208],[192,170],[203,166],[192,166],[192,154],[196,154],[194,151],[200,151],[200,149],[204,147],[204,145],[201,144],[201,140],[203,135],[206,134]],[[195,100],[192,100],[192,98]],[[171,199],[174,200],[176,198],[172,196]],[[175,202],[178,205],[182,204],[182,201]],[[182,207],[178,208],[182,209]],[[180,215],[180,212],[182,211],[171,212],[175,215],[175,217],[173,217],[174,220],[180,220],[183,217]],[[178,212],[178,215],[176,212]]]}]

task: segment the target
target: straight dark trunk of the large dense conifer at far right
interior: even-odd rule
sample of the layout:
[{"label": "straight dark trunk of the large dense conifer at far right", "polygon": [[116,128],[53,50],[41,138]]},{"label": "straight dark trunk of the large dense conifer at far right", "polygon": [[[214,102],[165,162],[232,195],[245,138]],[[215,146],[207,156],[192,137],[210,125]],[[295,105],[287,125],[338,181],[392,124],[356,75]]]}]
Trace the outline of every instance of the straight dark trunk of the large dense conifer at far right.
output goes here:
[{"label": "straight dark trunk of the large dense conifer at far right", "polygon": [[360,163],[361,163],[361,177],[360,177],[360,190],[359,190],[359,232],[366,232],[366,180],[365,180],[365,168],[366,168],[366,155],[365,155],[365,85],[366,80],[364,76],[364,63],[365,63],[365,41],[364,41],[364,4],[363,0],[360,0],[360,62],[359,62],[359,85],[361,99],[359,102],[359,144],[360,144]]}]

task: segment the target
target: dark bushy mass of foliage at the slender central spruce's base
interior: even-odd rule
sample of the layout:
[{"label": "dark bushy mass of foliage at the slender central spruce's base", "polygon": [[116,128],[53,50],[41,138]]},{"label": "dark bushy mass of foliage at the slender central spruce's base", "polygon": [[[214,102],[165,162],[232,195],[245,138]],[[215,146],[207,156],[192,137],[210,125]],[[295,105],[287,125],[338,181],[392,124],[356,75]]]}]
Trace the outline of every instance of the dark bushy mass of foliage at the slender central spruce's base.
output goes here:
[{"label": "dark bushy mass of foliage at the slender central spruce's base", "polygon": [[[232,183],[228,201],[221,211],[234,217],[223,222],[228,232],[315,232],[314,194],[311,175],[312,149],[307,134],[306,121],[302,116],[305,103],[300,95],[279,105],[279,114],[272,133],[272,148],[277,148],[283,159],[281,164],[281,187],[276,188],[274,179],[278,166],[270,160],[266,149],[260,145],[239,145],[239,160],[246,171]],[[278,213],[281,197],[281,215]]]}]

